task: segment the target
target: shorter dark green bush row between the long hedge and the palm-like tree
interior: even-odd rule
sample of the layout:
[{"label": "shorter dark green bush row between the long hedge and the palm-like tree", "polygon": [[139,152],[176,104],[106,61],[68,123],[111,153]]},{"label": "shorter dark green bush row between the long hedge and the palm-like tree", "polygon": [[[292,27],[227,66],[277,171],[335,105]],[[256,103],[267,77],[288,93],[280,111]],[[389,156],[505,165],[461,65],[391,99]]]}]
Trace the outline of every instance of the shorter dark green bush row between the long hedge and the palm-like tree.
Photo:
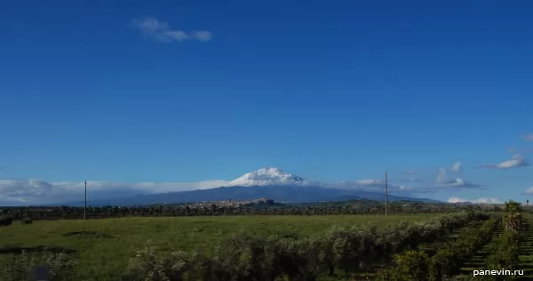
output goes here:
[{"label": "shorter dark green bush row between the long hedge and the palm-like tree", "polygon": [[469,229],[457,240],[442,245],[433,257],[424,251],[410,250],[394,257],[392,269],[378,273],[379,281],[441,281],[460,273],[461,265],[489,243],[500,218],[486,221],[479,228]]}]

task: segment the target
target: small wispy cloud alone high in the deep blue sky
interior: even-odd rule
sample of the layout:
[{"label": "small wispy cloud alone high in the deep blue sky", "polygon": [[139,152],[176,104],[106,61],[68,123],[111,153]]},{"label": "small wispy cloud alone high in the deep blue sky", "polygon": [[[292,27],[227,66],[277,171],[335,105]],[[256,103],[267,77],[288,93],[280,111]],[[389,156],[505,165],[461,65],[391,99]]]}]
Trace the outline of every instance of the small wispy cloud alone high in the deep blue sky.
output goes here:
[{"label": "small wispy cloud alone high in the deep blue sky", "polygon": [[211,41],[210,31],[185,32],[178,29],[171,29],[167,22],[159,21],[152,17],[143,20],[133,20],[133,25],[139,28],[140,32],[147,37],[151,37],[157,42],[171,43],[174,41],[183,42],[185,40],[197,40],[202,42]]}]

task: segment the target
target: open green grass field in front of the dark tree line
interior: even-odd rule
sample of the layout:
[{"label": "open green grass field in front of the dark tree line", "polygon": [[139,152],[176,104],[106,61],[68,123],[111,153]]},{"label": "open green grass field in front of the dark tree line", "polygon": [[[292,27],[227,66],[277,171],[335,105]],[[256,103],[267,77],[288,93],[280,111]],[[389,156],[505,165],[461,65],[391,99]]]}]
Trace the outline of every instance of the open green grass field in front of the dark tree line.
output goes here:
[{"label": "open green grass field in front of the dark tree line", "polygon": [[[0,248],[63,247],[76,250],[76,280],[116,280],[135,250],[147,240],[162,250],[201,249],[210,252],[219,241],[239,229],[262,233],[298,231],[304,235],[319,233],[331,226],[375,224],[387,226],[401,221],[422,221],[436,214],[324,215],[324,216],[226,216],[123,218],[92,221],[35,221],[22,225],[14,221],[0,228]],[[65,236],[71,232],[93,231],[108,237]],[[2,254],[0,259],[12,259]]]}]

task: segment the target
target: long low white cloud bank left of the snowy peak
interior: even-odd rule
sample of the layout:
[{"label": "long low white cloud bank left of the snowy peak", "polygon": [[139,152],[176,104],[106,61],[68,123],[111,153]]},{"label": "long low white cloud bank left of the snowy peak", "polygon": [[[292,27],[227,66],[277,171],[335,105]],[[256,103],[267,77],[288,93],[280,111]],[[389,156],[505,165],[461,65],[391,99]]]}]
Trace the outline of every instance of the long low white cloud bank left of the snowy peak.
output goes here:
[{"label": "long low white cloud bank left of the snowy peak", "polygon": [[[139,194],[213,189],[226,184],[227,181],[223,180],[138,183],[87,181],[87,190],[90,200],[98,200],[112,197],[131,197]],[[84,181],[0,180],[0,204],[8,202],[51,204],[83,200]]]}]

